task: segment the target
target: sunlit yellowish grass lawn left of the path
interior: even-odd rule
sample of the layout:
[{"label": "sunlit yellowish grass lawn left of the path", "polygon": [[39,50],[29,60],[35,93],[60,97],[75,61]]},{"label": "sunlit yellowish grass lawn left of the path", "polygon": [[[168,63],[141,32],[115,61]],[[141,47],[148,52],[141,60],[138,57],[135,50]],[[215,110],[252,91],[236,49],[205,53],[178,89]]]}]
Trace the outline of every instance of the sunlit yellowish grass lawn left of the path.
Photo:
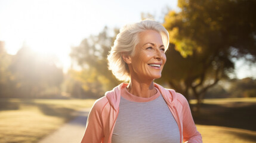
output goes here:
[{"label": "sunlit yellowish grass lawn left of the path", "polygon": [[37,142],[94,101],[0,99],[0,142]]}]

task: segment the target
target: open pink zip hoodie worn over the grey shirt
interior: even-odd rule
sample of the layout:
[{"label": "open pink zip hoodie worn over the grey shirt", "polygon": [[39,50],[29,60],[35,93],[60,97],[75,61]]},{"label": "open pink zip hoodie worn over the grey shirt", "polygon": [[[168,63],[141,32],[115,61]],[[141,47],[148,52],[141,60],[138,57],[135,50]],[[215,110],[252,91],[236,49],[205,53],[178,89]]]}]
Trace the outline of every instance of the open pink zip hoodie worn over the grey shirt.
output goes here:
[{"label": "open pink zip hoodie worn over the grey shirt", "polygon": [[[125,88],[127,85],[128,83],[121,83],[112,91],[106,92],[104,97],[95,101],[88,116],[82,143],[112,142],[112,133],[119,113],[121,88]],[[161,92],[178,124],[180,142],[202,142],[201,133],[196,129],[186,98],[172,89],[165,89],[156,83],[154,86]]]}]

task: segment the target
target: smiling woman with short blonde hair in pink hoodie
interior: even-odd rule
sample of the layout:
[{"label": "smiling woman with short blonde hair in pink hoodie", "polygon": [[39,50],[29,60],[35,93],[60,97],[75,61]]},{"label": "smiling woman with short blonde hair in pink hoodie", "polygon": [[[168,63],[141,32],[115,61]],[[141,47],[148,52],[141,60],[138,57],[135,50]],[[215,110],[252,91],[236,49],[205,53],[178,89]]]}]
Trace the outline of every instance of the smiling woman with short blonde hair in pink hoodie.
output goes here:
[{"label": "smiling woman with short blonde hair in pink hoodie", "polygon": [[144,20],[124,26],[108,55],[121,83],[95,101],[82,142],[202,142],[183,95],[154,83],[166,62],[169,34]]}]

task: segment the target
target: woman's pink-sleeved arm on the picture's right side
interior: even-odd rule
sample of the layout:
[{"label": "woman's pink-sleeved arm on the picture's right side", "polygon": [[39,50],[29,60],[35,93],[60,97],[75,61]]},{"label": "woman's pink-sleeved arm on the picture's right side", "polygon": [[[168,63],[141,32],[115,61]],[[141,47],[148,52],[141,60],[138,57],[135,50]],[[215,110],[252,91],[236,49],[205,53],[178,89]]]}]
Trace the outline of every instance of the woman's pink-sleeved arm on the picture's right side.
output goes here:
[{"label": "woman's pink-sleeved arm on the picture's right side", "polygon": [[183,141],[187,143],[201,143],[201,133],[196,129],[195,122],[193,120],[189,102],[182,95],[183,103]]}]

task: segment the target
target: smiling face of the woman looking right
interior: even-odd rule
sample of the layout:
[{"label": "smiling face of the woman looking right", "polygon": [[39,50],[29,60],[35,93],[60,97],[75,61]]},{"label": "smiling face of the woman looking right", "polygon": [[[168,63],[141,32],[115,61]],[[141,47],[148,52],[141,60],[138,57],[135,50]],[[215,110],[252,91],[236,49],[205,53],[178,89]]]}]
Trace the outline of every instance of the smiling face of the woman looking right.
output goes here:
[{"label": "smiling face of the woman looking right", "polygon": [[128,63],[132,78],[154,80],[161,77],[166,62],[165,47],[161,35],[155,30],[146,30],[139,35],[134,55]]}]

